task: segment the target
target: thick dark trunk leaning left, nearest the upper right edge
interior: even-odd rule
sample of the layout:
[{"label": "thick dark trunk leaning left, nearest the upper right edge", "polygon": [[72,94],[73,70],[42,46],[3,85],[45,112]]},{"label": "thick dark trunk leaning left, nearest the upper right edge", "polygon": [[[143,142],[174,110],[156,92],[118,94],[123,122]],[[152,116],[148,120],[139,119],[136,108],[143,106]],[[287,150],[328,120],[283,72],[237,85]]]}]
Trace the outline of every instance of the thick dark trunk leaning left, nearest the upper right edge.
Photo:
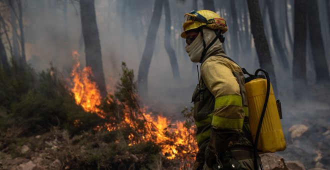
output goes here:
[{"label": "thick dark trunk leaning left, nearest the upper right edge", "polygon": [[316,72],[316,82],[329,81],[329,70],[325,58],[317,1],[307,0],[307,6],[308,25],[312,25],[312,27],[309,27],[309,37]]}]

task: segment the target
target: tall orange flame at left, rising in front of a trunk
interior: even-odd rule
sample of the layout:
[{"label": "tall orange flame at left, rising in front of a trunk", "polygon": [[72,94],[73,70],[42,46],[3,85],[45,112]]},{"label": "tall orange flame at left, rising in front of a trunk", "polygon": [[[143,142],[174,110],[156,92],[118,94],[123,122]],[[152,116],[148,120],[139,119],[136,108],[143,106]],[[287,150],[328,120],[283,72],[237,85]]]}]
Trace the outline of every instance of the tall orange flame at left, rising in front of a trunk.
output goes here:
[{"label": "tall orange flame at left, rising in front of a trunk", "polygon": [[75,102],[82,106],[85,111],[94,112],[100,117],[104,118],[102,111],[97,107],[101,104],[101,95],[97,88],[96,82],[91,81],[89,77],[93,76],[89,66],[80,70],[80,56],[78,51],[72,51],[75,64],[71,72],[72,88],[71,91],[74,95]]}]

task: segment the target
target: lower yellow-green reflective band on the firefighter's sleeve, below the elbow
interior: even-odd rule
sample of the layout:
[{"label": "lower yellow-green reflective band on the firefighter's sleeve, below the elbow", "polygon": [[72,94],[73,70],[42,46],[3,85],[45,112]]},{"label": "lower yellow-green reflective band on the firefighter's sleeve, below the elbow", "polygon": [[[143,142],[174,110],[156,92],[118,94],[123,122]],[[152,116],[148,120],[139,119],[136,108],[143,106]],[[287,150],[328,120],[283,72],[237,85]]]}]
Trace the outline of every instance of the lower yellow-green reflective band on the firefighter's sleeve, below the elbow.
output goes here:
[{"label": "lower yellow-green reflective band on the firefighter's sleeve, below the elbow", "polygon": [[213,115],[212,126],[222,129],[241,129],[243,120],[243,118],[224,118]]}]

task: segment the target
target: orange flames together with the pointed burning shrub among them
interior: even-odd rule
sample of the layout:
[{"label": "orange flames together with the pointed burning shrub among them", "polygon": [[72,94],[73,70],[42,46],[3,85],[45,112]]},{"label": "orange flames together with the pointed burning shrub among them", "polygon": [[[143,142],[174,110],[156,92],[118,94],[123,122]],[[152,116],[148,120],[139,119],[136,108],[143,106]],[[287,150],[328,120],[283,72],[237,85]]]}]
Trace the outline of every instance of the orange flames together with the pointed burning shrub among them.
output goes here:
[{"label": "orange flames together with the pointed burning shrub among them", "polygon": [[[78,53],[73,52],[73,56],[77,57]],[[140,107],[133,71],[128,69],[125,63],[122,63],[121,68],[121,77],[113,94],[109,93],[102,100],[95,82],[89,80],[92,76],[91,69],[85,67],[80,70],[76,59],[71,72],[70,89],[77,104],[85,111],[102,118],[93,129],[115,134],[112,142],[123,144],[127,148],[145,145],[159,148],[159,151],[156,151],[159,157],[157,161],[162,157],[180,162],[181,168],[191,167],[197,150],[191,110],[185,108],[182,111],[187,117],[186,122],[171,122],[167,117],[147,112],[145,106]],[[74,120],[74,123],[76,126],[82,124],[79,119]]]}]

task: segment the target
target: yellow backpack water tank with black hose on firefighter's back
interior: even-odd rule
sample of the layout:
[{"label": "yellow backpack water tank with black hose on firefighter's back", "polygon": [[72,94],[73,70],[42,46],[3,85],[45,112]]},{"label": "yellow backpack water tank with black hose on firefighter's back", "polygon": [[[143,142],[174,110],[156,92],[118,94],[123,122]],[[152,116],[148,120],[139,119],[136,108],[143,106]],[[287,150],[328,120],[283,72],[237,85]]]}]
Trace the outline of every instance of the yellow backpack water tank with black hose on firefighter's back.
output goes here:
[{"label": "yellow backpack water tank with black hose on firefighter's back", "polygon": [[[257,69],[254,75],[244,68],[243,72],[249,77],[245,78],[245,91],[248,101],[248,117],[252,139],[254,143],[254,165],[256,166],[257,152],[267,153],[285,149],[285,139],[280,123],[281,109],[279,100],[270,83],[269,75],[264,69]],[[262,71],[265,74],[258,75]]]}]

